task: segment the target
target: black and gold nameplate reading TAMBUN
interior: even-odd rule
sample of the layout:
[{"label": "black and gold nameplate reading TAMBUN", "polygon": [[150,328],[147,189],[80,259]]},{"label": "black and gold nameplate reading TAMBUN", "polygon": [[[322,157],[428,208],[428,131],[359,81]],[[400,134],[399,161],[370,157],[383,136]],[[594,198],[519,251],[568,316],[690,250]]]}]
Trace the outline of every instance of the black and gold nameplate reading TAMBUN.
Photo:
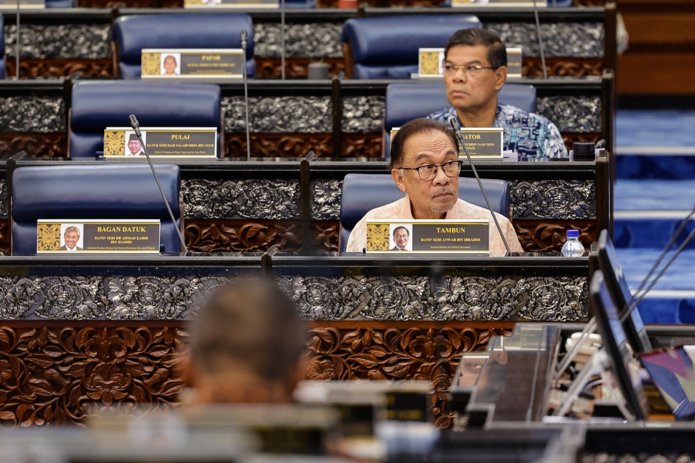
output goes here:
[{"label": "black and gold nameplate reading TAMBUN", "polygon": [[489,253],[489,220],[368,220],[367,252]]}]

